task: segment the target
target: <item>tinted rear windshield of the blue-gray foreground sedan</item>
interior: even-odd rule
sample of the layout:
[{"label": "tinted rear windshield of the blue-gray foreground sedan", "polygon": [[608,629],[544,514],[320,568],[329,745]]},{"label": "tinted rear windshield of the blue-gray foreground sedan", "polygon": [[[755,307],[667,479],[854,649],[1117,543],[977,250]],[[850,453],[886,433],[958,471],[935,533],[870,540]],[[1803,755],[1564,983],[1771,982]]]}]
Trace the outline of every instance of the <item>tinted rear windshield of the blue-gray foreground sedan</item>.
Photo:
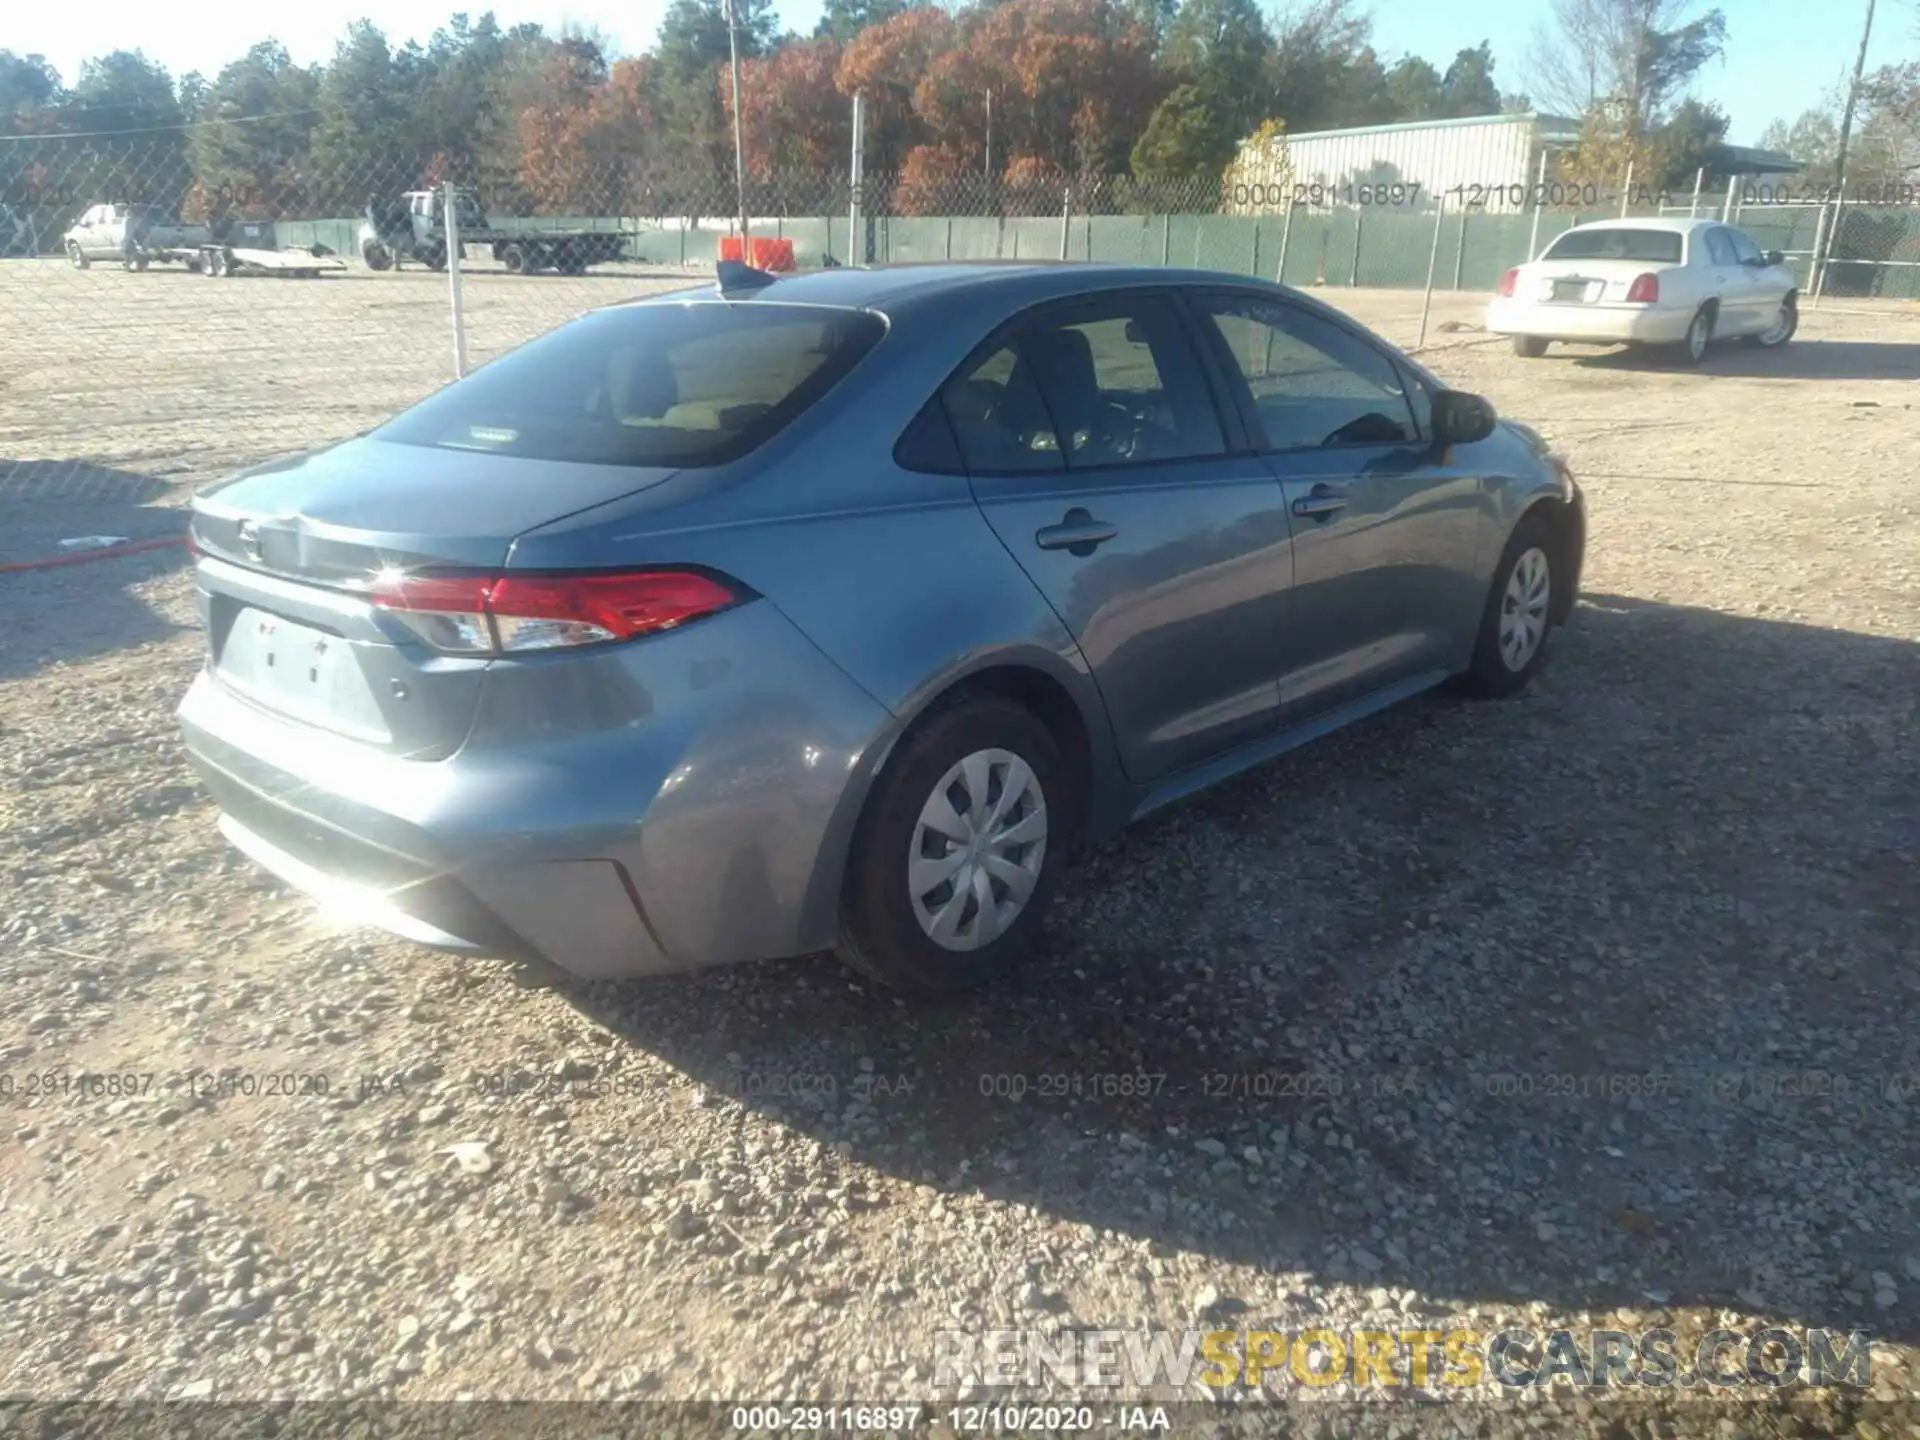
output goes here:
[{"label": "tinted rear windshield of the blue-gray foreground sedan", "polygon": [[501,355],[374,436],[582,465],[724,465],[791,424],[883,332],[854,309],[620,305]]}]

